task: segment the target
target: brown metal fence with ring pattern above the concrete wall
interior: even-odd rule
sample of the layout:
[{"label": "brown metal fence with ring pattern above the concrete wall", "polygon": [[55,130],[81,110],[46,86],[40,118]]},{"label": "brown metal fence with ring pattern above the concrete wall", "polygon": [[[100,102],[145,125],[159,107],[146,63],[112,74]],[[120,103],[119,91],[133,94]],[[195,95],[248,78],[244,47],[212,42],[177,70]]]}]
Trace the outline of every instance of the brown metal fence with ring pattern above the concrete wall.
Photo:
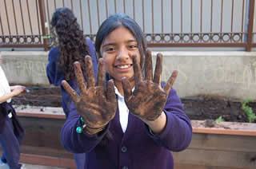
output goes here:
[{"label": "brown metal fence with ring pattern above the concrete wall", "polygon": [[256,47],[254,0],[0,0],[0,46],[47,49],[50,18],[66,6],[92,40],[100,24],[126,13],[149,46]]}]

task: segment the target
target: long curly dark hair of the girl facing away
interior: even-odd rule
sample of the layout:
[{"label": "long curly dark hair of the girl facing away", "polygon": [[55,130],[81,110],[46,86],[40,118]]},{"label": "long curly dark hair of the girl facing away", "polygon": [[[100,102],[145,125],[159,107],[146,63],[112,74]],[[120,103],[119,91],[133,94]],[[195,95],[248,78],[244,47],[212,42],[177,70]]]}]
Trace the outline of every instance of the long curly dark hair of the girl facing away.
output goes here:
[{"label": "long curly dark hair of the girl facing away", "polygon": [[[69,8],[63,7],[55,10],[50,22],[51,29],[55,29],[58,37],[58,68],[69,81],[75,77],[74,61],[85,65],[85,56],[90,55],[86,38],[77,22],[77,18]],[[85,73],[85,66],[82,66]]]}]

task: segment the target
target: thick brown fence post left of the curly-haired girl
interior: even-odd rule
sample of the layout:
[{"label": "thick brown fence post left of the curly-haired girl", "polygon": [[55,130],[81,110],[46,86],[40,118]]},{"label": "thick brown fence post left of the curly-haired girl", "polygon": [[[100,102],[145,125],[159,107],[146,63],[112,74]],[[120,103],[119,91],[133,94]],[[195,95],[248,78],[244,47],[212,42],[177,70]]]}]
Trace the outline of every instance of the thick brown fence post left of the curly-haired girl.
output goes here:
[{"label": "thick brown fence post left of the curly-haired girl", "polygon": [[[40,19],[41,19],[41,26],[42,26],[42,37],[46,36],[46,8],[44,4],[44,0],[38,0],[39,1],[39,13],[40,13]],[[45,50],[48,50],[48,39],[42,38],[43,48]]]}]

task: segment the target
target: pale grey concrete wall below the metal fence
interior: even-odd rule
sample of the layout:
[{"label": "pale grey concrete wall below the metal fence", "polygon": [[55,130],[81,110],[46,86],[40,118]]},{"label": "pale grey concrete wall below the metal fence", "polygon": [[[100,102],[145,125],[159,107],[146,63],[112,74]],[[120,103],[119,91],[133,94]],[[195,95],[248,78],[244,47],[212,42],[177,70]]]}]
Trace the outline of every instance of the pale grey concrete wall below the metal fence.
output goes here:
[{"label": "pale grey concrete wall below the metal fence", "polygon": [[[46,52],[1,52],[2,69],[10,83],[49,85]],[[154,52],[154,61],[155,55]],[[256,52],[161,52],[162,80],[174,69],[178,96],[225,96],[256,99]]]}]

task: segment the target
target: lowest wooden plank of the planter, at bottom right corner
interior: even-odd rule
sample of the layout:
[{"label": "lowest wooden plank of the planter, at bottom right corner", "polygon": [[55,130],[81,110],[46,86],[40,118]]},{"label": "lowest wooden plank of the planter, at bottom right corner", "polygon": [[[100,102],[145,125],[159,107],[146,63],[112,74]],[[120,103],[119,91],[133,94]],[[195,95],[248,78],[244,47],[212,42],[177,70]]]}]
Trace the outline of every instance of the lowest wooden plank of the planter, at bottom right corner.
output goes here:
[{"label": "lowest wooden plank of the planter, at bottom right corner", "polygon": [[242,151],[222,151],[187,148],[174,152],[174,161],[181,165],[199,165],[208,167],[256,168],[256,153]]}]

